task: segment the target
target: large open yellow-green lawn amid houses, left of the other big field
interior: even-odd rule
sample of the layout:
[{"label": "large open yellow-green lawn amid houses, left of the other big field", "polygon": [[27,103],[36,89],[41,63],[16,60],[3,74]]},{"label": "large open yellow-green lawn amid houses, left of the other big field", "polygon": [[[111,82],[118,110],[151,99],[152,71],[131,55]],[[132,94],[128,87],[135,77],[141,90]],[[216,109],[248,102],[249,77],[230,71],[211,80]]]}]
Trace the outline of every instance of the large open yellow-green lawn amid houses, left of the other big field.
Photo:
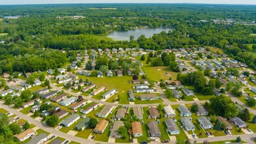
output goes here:
[{"label": "large open yellow-green lawn amid houses, left of the other big field", "polygon": [[[117,91],[119,91],[116,95],[120,95],[120,103],[129,104],[128,102],[128,91],[132,90],[132,86],[134,84],[130,84],[130,81],[132,81],[131,76],[123,76],[123,77],[86,77],[83,75],[79,75],[79,79],[82,78],[83,81],[88,79],[92,83],[96,84],[99,88],[100,86],[105,86],[107,90],[111,90],[112,88],[115,88]],[[104,94],[103,92],[102,94]],[[102,94],[98,94],[100,96],[93,96],[92,98],[99,99]],[[127,98],[127,100],[126,100]]]}]

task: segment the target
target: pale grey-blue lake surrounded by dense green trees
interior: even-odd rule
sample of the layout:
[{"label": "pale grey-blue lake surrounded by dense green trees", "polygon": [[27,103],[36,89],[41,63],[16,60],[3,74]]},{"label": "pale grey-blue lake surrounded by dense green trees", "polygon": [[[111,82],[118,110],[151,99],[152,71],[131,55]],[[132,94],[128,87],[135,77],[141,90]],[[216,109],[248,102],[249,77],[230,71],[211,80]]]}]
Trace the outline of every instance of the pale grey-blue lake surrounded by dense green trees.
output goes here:
[{"label": "pale grey-blue lake surrounded by dense green trees", "polygon": [[137,39],[141,35],[145,35],[145,37],[149,38],[152,37],[155,33],[160,33],[162,31],[170,31],[172,29],[168,28],[157,28],[157,29],[135,29],[130,31],[113,31],[107,35],[107,37],[111,39],[115,39],[117,41],[129,41],[130,36],[134,35],[134,39]]}]

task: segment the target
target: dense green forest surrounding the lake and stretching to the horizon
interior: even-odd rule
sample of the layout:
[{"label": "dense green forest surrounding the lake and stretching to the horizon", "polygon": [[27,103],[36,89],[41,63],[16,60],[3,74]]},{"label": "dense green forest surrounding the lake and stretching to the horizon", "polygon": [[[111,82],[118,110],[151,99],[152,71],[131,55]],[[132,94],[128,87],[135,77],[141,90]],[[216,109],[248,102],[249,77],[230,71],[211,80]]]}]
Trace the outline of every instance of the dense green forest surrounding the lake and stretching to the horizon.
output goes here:
[{"label": "dense green forest surrounding the lake and stretching to the horizon", "polygon": [[[120,47],[161,50],[216,46],[256,69],[256,26],[213,22],[229,18],[252,22],[256,18],[256,6],[252,5],[10,5],[0,6],[0,14],[0,74],[60,67],[67,56],[59,50]],[[173,30],[150,38],[131,36],[130,41],[105,39],[109,31],[147,27]]]}]

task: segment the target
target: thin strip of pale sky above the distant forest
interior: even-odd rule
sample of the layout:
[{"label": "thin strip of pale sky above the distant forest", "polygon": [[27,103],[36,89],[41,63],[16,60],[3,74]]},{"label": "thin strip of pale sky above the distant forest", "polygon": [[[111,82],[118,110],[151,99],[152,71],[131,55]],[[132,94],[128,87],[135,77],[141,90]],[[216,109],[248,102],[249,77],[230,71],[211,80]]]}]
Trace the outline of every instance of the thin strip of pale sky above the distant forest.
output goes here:
[{"label": "thin strip of pale sky above the distant forest", "polygon": [[256,5],[256,0],[0,0],[0,5],[51,3],[210,3]]}]

